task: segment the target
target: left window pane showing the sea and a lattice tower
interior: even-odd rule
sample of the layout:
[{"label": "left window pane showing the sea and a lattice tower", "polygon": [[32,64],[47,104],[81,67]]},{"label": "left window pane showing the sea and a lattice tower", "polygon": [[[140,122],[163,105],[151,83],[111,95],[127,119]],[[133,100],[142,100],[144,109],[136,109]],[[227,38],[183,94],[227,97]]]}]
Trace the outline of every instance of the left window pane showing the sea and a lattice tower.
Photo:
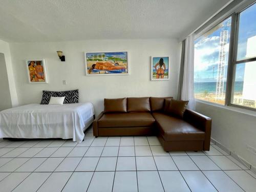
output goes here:
[{"label": "left window pane showing the sea and a lattice tower", "polygon": [[225,104],[231,17],[195,40],[195,98]]}]

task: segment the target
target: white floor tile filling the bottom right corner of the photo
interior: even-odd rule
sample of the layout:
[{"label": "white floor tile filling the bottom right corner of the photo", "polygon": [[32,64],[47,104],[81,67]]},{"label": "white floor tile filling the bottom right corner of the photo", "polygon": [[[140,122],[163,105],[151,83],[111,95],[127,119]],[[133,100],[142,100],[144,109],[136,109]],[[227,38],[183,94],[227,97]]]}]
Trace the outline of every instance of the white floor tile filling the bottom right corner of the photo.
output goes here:
[{"label": "white floor tile filling the bottom right corner of the photo", "polygon": [[225,173],[245,191],[255,191],[256,179],[245,170],[225,170]]}]

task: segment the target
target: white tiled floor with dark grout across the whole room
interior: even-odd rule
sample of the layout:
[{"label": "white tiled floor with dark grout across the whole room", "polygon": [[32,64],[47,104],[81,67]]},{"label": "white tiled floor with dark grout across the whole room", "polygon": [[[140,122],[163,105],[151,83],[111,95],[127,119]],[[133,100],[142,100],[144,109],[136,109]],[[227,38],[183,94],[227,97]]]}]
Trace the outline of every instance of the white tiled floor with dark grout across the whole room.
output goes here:
[{"label": "white tiled floor with dark grout across the whole room", "polygon": [[163,151],[156,137],[0,140],[0,191],[256,191],[256,175],[211,144]]}]

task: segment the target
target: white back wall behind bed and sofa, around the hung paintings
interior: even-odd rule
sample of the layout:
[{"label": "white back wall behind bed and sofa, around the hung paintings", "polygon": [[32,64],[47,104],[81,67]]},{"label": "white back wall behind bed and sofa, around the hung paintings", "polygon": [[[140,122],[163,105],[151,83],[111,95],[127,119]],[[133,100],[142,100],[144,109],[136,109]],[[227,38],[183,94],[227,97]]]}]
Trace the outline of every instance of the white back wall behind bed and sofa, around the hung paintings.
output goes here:
[{"label": "white back wall behind bed and sofa, around the hung paintings", "polygon": [[[177,96],[178,54],[176,39],[86,40],[10,44],[19,104],[39,103],[42,90],[79,89],[80,102],[92,102],[96,114],[103,110],[103,98]],[[56,51],[63,51],[61,62]],[[86,76],[84,51],[128,51],[130,75]],[[170,56],[170,80],[150,80],[150,56]],[[28,83],[25,59],[45,58],[48,84]],[[67,85],[62,84],[67,81]]]}]

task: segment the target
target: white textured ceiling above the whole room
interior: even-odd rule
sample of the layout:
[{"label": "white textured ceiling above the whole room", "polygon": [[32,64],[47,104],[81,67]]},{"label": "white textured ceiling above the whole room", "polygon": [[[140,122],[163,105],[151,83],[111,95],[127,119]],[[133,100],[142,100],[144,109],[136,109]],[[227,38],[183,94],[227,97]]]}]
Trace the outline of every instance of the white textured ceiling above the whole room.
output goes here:
[{"label": "white textured ceiling above the whole room", "polygon": [[181,39],[229,1],[0,0],[0,39]]}]

